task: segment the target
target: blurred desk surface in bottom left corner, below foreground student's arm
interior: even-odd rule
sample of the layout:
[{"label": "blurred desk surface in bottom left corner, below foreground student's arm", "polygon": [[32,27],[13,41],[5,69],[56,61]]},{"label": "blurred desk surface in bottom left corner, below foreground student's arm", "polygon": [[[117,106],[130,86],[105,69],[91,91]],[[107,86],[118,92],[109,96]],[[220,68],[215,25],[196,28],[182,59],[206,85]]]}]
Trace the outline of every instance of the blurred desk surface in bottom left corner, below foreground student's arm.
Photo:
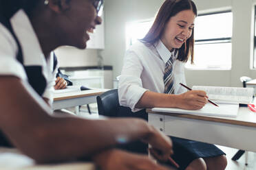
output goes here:
[{"label": "blurred desk surface in bottom left corner, below foreground student's arm", "polygon": [[63,162],[61,164],[36,165],[34,160],[18,149],[0,147],[1,170],[95,170],[90,162]]}]

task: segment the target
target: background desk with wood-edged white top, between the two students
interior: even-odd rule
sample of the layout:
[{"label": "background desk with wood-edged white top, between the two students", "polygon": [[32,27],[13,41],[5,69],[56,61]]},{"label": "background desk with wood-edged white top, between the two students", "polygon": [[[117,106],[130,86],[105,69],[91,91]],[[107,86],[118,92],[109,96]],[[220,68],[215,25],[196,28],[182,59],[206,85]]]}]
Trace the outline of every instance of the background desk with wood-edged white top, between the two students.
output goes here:
[{"label": "background desk with wood-edged white top, between the two students", "polygon": [[52,108],[54,110],[61,108],[70,108],[84,104],[96,103],[96,97],[108,89],[82,90],[68,93],[54,94]]}]

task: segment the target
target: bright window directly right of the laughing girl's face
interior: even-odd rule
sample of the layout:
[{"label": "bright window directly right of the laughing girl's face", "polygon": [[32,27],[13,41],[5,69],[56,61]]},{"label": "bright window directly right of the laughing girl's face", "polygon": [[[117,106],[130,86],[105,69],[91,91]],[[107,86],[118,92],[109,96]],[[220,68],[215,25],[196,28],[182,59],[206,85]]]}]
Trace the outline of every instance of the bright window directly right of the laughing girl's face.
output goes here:
[{"label": "bright window directly right of the laughing girl's face", "polygon": [[231,11],[201,14],[195,19],[194,64],[187,69],[228,70],[232,59]]}]

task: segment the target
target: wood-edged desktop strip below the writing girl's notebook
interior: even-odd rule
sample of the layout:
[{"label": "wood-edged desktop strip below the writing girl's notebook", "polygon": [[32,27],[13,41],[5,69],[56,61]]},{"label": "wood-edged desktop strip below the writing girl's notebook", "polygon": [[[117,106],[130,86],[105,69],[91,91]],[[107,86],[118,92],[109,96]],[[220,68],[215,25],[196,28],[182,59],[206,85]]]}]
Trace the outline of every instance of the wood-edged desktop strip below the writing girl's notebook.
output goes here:
[{"label": "wood-edged desktop strip below the writing girl's notebook", "polygon": [[230,117],[208,117],[208,116],[200,116],[200,115],[193,115],[193,114],[177,114],[177,113],[167,113],[167,112],[153,112],[151,109],[146,110],[148,113],[151,114],[162,114],[162,115],[169,115],[172,117],[182,117],[188,119],[198,119],[202,121],[214,121],[218,123],[229,123],[233,125],[245,125],[250,127],[256,127],[256,112],[252,112],[247,107],[240,107],[237,117],[230,118]]}]

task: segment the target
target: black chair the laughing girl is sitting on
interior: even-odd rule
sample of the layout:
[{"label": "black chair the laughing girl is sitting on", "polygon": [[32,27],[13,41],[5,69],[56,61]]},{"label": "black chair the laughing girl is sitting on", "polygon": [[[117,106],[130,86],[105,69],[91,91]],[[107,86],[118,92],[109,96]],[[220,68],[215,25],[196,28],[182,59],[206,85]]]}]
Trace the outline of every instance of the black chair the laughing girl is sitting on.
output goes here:
[{"label": "black chair the laughing girl is sitting on", "polygon": [[[97,96],[98,114],[105,117],[136,117],[147,120],[145,110],[132,112],[131,108],[120,106],[118,100],[118,89],[111,89]],[[132,151],[140,154],[147,154],[148,145],[141,141],[135,141],[126,145],[121,145],[120,149]]]}]

